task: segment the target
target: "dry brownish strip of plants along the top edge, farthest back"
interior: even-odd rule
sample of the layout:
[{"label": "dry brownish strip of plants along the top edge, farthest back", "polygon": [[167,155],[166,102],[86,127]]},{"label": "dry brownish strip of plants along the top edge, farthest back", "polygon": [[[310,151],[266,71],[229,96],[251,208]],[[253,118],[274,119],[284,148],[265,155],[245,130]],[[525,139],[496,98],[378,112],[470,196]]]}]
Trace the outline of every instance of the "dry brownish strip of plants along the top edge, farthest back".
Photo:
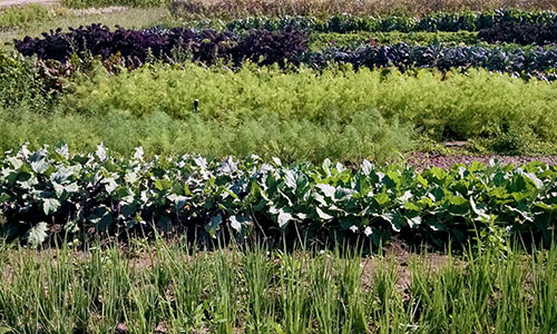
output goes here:
[{"label": "dry brownish strip of plants along the top edge, farthest back", "polygon": [[555,0],[62,0],[72,8],[87,7],[162,7],[168,6],[174,14],[185,17],[246,17],[246,16],[319,16],[332,14],[402,14],[427,16],[448,11],[487,11],[499,8],[518,8],[521,10],[556,10]]}]

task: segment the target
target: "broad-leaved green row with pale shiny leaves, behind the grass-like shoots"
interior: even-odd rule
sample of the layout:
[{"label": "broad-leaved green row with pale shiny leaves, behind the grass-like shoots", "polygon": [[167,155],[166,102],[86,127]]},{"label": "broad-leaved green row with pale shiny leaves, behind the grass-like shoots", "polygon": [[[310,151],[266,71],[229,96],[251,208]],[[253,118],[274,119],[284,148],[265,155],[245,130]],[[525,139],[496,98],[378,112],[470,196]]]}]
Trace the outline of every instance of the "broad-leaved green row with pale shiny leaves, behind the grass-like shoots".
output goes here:
[{"label": "broad-leaved green row with pale shiny leaves, behind the grass-like shoots", "polygon": [[442,245],[476,233],[508,230],[550,238],[557,209],[557,168],[497,164],[450,170],[358,169],[325,160],[283,165],[243,160],[69,155],[66,146],[8,154],[0,174],[2,232],[31,245],[76,235],[129,236],[180,232],[215,237],[232,233],[277,240],[392,235]]}]

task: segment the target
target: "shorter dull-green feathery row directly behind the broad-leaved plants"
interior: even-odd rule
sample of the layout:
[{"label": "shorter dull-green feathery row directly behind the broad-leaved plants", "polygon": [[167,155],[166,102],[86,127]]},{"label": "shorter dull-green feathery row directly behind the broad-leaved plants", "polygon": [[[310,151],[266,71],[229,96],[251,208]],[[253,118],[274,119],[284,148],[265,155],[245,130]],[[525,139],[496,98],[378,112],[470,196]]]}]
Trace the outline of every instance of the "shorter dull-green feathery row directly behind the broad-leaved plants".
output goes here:
[{"label": "shorter dull-green feathery row directly behind the broad-leaved plants", "polygon": [[[193,106],[189,107],[193,109]],[[143,146],[146,156],[162,154],[203,154],[264,158],[281,157],[322,161],[360,160],[377,163],[399,159],[399,153],[412,146],[411,129],[387,121],[377,111],[359,112],[345,124],[325,120],[281,119],[262,115],[256,119],[218,121],[192,116],[174,119],[162,111],[141,117],[114,111],[107,115],[47,114],[28,109],[0,109],[0,150],[17,148],[29,141],[31,147],[67,143],[76,151],[92,150],[105,143],[115,151],[129,155]]]}]

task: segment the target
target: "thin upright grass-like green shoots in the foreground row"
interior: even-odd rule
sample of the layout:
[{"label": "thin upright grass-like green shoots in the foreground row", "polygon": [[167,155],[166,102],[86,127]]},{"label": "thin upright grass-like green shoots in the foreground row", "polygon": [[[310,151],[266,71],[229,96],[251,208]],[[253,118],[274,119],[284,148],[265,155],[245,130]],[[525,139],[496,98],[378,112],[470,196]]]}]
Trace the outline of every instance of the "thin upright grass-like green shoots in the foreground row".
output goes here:
[{"label": "thin upright grass-like green shoots in the foreground row", "polygon": [[505,244],[499,249],[486,243],[463,256],[363,257],[322,245],[302,252],[242,245],[197,254],[180,240],[137,240],[125,250],[96,245],[86,252],[4,246],[1,328],[506,334],[551,333],[557,325],[555,247],[505,252]]}]

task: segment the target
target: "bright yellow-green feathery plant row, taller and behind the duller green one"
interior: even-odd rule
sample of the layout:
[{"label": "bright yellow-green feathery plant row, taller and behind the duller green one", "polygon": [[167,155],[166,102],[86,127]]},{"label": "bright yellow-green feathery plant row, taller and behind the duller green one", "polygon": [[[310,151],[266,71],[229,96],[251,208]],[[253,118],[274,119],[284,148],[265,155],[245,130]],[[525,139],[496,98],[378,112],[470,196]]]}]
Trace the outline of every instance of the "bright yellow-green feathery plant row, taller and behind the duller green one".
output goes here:
[{"label": "bright yellow-green feathery plant row, taller and behind the duller green one", "polygon": [[[203,119],[236,125],[265,115],[324,126],[380,111],[388,124],[411,126],[436,139],[490,137],[512,126],[529,127],[555,143],[557,84],[524,81],[485,70],[466,75],[431,70],[301,68],[284,71],[244,66],[238,71],[194,63],[154,65],[118,76],[82,77],[61,102],[67,112],[145,116],[164,111],[188,119],[198,99]],[[499,130],[500,129],[500,130]]]}]

